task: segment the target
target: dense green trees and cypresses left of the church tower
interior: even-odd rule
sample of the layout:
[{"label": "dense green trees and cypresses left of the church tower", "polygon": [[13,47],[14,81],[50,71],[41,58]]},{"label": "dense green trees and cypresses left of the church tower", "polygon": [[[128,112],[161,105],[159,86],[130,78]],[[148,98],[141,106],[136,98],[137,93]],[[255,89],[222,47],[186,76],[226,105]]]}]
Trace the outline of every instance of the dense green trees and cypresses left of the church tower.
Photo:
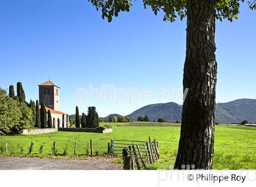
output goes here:
[{"label": "dense green trees and cypresses left of the church tower", "polygon": [[[45,104],[39,106],[30,100],[26,102],[22,83],[18,82],[16,95],[14,86],[9,86],[9,93],[0,88],[0,135],[20,134],[23,129],[53,128],[51,112],[46,111]],[[47,117],[48,116],[48,117]]]}]

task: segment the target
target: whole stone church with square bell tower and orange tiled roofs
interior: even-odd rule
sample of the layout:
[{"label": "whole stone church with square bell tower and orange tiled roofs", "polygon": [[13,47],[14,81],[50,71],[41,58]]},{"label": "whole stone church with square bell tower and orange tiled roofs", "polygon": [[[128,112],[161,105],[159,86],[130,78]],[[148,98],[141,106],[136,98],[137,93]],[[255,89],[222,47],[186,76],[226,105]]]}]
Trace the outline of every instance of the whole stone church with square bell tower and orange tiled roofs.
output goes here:
[{"label": "whole stone church with square bell tower and orange tiled roofs", "polygon": [[53,128],[69,128],[69,115],[60,111],[60,88],[48,80],[39,84],[39,103],[44,102],[46,112],[50,110]]}]

